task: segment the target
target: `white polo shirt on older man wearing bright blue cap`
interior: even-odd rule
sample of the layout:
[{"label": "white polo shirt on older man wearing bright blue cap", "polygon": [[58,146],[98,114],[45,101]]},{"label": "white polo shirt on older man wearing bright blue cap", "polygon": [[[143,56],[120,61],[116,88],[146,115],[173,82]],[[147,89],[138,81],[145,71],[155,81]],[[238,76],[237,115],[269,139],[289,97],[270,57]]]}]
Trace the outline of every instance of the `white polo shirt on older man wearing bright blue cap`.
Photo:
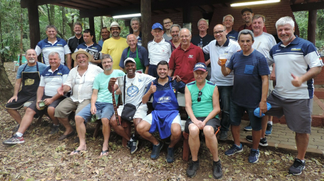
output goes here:
[{"label": "white polo shirt on older man wearing bright blue cap", "polygon": [[157,65],[162,60],[169,62],[172,53],[170,41],[162,39],[159,43],[156,43],[152,40],[147,43],[147,49],[151,65]]}]

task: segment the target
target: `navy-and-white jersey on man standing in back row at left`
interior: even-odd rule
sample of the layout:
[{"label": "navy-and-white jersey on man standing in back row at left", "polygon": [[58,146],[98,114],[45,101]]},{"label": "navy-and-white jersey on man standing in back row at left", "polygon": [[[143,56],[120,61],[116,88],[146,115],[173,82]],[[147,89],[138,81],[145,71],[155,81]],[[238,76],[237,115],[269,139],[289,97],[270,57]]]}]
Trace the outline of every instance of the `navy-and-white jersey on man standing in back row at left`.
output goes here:
[{"label": "navy-and-white jersey on man standing in back row at left", "polygon": [[52,51],[56,51],[60,54],[62,65],[64,65],[64,55],[71,53],[66,41],[58,37],[56,37],[56,41],[54,43],[49,42],[48,38],[41,40],[37,43],[35,51],[37,56],[43,53],[43,61],[47,66],[50,65],[48,62],[48,55]]}]

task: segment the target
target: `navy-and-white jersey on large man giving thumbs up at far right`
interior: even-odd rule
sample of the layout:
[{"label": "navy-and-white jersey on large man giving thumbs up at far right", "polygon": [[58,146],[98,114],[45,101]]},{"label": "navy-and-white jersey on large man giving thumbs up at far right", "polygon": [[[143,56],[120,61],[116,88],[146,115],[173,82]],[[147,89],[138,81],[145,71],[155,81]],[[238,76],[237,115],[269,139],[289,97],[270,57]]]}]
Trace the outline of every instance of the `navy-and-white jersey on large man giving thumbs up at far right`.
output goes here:
[{"label": "navy-and-white jersey on large man giving thumbs up at far right", "polygon": [[282,42],[273,46],[269,58],[269,65],[276,64],[274,94],[288,99],[313,98],[313,79],[303,82],[299,87],[291,83],[293,80],[291,74],[300,77],[310,68],[323,66],[323,61],[313,43],[296,36],[295,40],[287,46],[284,46]]}]

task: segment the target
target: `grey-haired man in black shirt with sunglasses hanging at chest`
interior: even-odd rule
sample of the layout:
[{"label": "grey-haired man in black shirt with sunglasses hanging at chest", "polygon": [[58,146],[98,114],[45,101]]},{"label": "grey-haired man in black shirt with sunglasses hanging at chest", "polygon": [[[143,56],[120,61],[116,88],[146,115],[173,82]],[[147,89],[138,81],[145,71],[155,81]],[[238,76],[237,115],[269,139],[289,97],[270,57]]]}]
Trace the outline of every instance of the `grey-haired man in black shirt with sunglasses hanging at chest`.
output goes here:
[{"label": "grey-haired man in black shirt with sunglasses hanging at chest", "polygon": [[[192,37],[191,39],[192,44],[196,46],[198,46],[198,44],[203,44],[204,47],[208,45],[211,41],[215,40],[215,38],[212,35],[207,34],[208,22],[205,19],[201,18],[198,21],[198,29],[199,29],[199,34]],[[208,72],[206,79],[209,81],[212,73],[210,57],[209,54],[204,54],[203,56],[205,59],[205,64],[207,65],[207,72]]]}]

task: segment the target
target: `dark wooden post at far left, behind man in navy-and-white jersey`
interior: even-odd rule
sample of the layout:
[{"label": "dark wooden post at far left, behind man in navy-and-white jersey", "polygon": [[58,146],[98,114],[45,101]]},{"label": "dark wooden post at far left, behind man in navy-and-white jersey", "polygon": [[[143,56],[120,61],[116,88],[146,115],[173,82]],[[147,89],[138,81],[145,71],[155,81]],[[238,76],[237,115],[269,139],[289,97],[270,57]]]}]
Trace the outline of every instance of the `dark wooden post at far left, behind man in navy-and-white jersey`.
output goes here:
[{"label": "dark wooden post at far left, behind man in navy-and-white jersey", "polygon": [[[38,6],[36,5],[36,1],[29,2],[28,4],[28,21],[29,21],[30,48],[34,49],[37,43],[41,41],[40,20],[39,20]],[[38,56],[37,59],[38,62],[41,62],[41,56]]]}]

